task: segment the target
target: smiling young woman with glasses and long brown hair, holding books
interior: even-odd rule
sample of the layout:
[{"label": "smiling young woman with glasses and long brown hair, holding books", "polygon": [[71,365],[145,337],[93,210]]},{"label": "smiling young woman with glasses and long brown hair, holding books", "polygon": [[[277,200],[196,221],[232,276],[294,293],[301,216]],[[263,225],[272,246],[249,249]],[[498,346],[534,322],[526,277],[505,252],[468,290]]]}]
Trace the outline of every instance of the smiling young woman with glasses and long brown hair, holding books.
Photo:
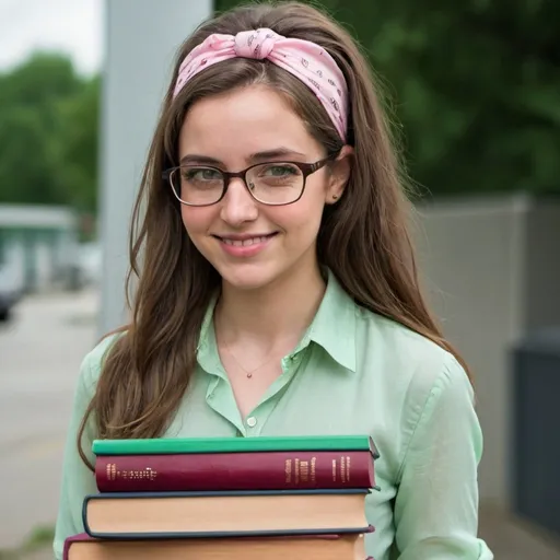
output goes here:
[{"label": "smiling young woman with glasses and long brown hair, holding books", "polygon": [[58,558],[95,438],[345,433],[381,452],[368,553],[492,558],[474,392],[422,299],[402,184],[368,63],[326,15],[261,3],[196,31],[136,208],[131,322],[78,381]]}]

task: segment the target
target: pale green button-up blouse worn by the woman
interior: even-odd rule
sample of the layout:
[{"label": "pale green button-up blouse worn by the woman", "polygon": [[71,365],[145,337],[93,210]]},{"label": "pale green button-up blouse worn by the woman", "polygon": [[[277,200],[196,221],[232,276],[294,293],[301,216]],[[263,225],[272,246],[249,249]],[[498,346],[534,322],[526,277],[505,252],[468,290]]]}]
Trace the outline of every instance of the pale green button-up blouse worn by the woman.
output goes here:
[{"label": "pale green button-up blouse worn by the woman", "polygon": [[[474,393],[448,352],[361,308],[329,275],[311,327],[282,360],[281,376],[242,418],[220,363],[212,313],[201,329],[194,382],[166,438],[371,434],[381,454],[381,490],[366,499],[375,526],[368,553],[375,560],[493,558],[477,538],[482,434]],[[75,439],[113,340],[85,357],[78,377],[54,542],[58,560],[65,538],[83,532],[84,495],[96,492]]]}]

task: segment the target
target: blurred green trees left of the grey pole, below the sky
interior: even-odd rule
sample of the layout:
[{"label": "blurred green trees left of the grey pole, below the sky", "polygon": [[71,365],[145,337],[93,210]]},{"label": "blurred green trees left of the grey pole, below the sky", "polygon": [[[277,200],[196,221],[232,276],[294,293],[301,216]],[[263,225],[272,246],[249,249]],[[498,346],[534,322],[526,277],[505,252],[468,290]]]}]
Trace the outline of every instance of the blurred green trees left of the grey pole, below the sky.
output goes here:
[{"label": "blurred green trees left of the grey pole, below the sky", "polygon": [[0,202],[96,208],[100,79],[36,54],[0,74]]}]

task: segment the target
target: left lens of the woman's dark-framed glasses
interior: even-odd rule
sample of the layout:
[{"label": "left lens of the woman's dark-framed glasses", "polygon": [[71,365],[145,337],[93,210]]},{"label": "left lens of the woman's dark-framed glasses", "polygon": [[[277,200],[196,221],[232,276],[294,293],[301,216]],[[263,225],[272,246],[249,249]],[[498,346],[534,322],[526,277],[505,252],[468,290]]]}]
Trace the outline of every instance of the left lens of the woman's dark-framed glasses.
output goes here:
[{"label": "left lens of the woman's dark-framed glasses", "polygon": [[176,197],[194,206],[213,205],[223,191],[223,175],[212,167],[186,165],[177,167],[170,176]]}]

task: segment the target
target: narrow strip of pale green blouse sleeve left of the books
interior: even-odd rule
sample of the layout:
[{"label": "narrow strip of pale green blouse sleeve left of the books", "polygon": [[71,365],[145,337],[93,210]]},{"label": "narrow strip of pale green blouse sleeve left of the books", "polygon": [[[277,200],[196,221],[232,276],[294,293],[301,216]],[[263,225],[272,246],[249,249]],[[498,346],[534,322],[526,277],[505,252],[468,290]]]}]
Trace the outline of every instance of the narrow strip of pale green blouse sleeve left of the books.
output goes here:
[{"label": "narrow strip of pale green blouse sleeve left of the books", "polygon": [[[97,347],[84,358],[74,390],[72,413],[63,453],[60,500],[52,545],[56,560],[62,560],[65,539],[71,535],[83,533],[83,499],[86,494],[97,492],[95,476],[80,457],[77,442],[83,415],[95,392],[95,383],[101,369],[101,352],[102,348]],[[92,465],[95,464],[92,453],[94,438],[93,421],[90,416],[82,436],[82,448]]]}]

